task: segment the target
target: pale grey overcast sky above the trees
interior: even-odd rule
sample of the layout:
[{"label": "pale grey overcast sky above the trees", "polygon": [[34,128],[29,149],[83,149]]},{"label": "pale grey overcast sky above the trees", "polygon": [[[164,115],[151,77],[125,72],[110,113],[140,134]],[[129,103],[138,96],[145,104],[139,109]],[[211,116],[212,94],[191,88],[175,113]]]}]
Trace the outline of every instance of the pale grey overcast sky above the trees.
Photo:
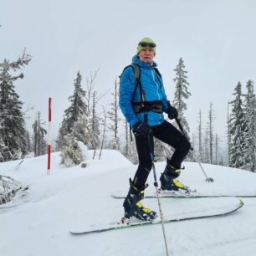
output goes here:
[{"label": "pale grey overcast sky above the trees", "polygon": [[[172,101],[179,58],[186,65],[187,120],[204,126],[210,102],[215,131],[225,136],[228,101],[241,81],[256,80],[256,1],[253,0],[8,0],[0,7],[0,61],[16,60],[26,48],[32,61],[15,83],[33,122],[40,110],[47,120],[53,98],[57,135],[78,70],[84,80],[100,68],[96,90],[113,90],[115,78],[131,63],[141,38],[156,41],[156,63]],[[83,84],[84,81],[83,81]],[[108,105],[111,96],[102,104]],[[30,127],[28,127],[31,129]]]}]

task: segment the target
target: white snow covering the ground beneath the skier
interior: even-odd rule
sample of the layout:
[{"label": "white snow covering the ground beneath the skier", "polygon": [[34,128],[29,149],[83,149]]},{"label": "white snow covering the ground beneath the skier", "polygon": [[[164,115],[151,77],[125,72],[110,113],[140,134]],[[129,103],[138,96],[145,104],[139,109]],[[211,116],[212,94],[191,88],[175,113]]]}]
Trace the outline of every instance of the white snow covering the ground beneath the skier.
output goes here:
[{"label": "white snow covering the ground beneath the skier", "polygon": [[[101,159],[88,151],[87,166],[59,166],[59,152],[52,155],[51,172],[47,174],[47,156],[0,164],[0,174],[28,186],[27,195],[15,197],[0,206],[0,255],[4,256],[160,256],[166,255],[161,225],[128,228],[107,233],[74,236],[75,227],[105,225],[119,221],[122,200],[110,197],[119,190],[128,191],[128,179],[136,166],[118,151],[105,150]],[[256,196],[256,175],[224,166],[203,164],[213,183],[194,162],[185,162],[180,181],[209,195]],[[165,163],[156,163],[160,177]],[[154,192],[153,177],[146,192]],[[206,218],[166,224],[170,253],[179,256],[241,256],[256,252],[256,197],[241,198],[245,205],[225,217]],[[222,198],[162,198],[165,216],[210,211],[213,205],[238,201]],[[146,207],[158,209],[156,199],[146,198]],[[9,208],[6,208],[10,206]],[[14,206],[14,207],[11,207]]]}]

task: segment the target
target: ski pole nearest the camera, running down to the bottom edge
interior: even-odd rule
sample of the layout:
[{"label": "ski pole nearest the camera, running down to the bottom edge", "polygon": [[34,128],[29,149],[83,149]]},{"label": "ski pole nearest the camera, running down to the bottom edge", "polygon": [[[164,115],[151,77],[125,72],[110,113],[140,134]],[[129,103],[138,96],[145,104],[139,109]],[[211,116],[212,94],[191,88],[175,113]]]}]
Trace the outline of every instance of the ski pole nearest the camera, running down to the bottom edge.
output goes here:
[{"label": "ski pole nearest the camera, running down to the bottom edge", "polygon": [[[144,115],[144,120],[145,120],[145,123],[147,124],[147,115],[146,114]],[[167,244],[167,240],[166,240],[166,228],[165,228],[165,224],[164,224],[163,213],[161,210],[159,188],[158,188],[158,183],[157,183],[157,178],[156,178],[156,167],[155,167],[155,163],[154,163],[154,152],[153,152],[152,139],[153,139],[153,136],[150,136],[150,135],[147,136],[148,146],[149,146],[149,150],[150,150],[150,157],[151,157],[151,162],[152,162],[152,168],[153,168],[153,175],[154,175],[154,186],[156,187],[156,198],[157,198],[159,212],[160,212],[160,218],[161,218],[161,228],[162,228],[162,233],[163,233],[165,246],[166,246],[166,256],[169,256],[168,244]]]}]

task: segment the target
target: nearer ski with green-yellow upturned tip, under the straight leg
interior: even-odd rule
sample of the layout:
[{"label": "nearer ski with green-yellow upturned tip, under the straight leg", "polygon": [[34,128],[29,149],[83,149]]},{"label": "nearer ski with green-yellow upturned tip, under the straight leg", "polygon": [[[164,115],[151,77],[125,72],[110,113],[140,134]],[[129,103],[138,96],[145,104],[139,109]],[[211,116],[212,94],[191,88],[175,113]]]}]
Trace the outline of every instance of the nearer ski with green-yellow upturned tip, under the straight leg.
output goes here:
[{"label": "nearer ski with green-yellow upturned tip, under the straight leg", "polygon": [[[212,217],[220,217],[225,216],[227,214],[230,214],[232,212],[237,211],[239,208],[243,207],[243,201],[239,200],[232,206],[226,207],[226,208],[216,208],[214,209],[214,213],[207,213],[207,214],[194,214],[189,217],[180,217],[180,218],[168,218],[166,217],[164,219],[164,223],[174,223],[179,221],[187,221],[187,220],[193,220],[193,219],[201,219],[201,218],[212,218]],[[102,233],[107,232],[110,230],[118,230],[118,229],[125,229],[125,228],[136,228],[136,227],[142,227],[142,226],[151,226],[151,225],[157,225],[161,223],[160,218],[156,218],[154,221],[140,221],[140,220],[126,220],[124,221],[124,218],[121,219],[120,222],[116,223],[109,223],[105,226],[96,227],[96,226],[90,226],[89,228],[82,228],[82,229],[74,229],[69,231],[69,233],[78,235],[78,234],[90,234],[90,233]]]}]

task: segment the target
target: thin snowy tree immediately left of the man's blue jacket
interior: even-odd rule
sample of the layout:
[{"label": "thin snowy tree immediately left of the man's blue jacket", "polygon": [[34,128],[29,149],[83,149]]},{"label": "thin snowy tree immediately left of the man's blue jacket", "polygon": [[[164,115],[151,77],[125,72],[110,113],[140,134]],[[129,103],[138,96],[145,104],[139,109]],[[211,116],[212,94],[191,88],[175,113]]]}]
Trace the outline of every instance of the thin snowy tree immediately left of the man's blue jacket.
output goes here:
[{"label": "thin snowy tree immediately left of the man's blue jacket", "polygon": [[118,111],[119,111],[119,105],[118,105],[118,82],[117,79],[115,79],[115,90],[114,93],[112,93],[114,96],[114,101],[110,104],[111,108],[110,111],[108,111],[108,115],[111,121],[111,124],[108,126],[110,131],[114,133],[114,138],[110,141],[110,148],[115,150],[120,150],[120,140],[118,137],[118,123],[120,121]]}]

